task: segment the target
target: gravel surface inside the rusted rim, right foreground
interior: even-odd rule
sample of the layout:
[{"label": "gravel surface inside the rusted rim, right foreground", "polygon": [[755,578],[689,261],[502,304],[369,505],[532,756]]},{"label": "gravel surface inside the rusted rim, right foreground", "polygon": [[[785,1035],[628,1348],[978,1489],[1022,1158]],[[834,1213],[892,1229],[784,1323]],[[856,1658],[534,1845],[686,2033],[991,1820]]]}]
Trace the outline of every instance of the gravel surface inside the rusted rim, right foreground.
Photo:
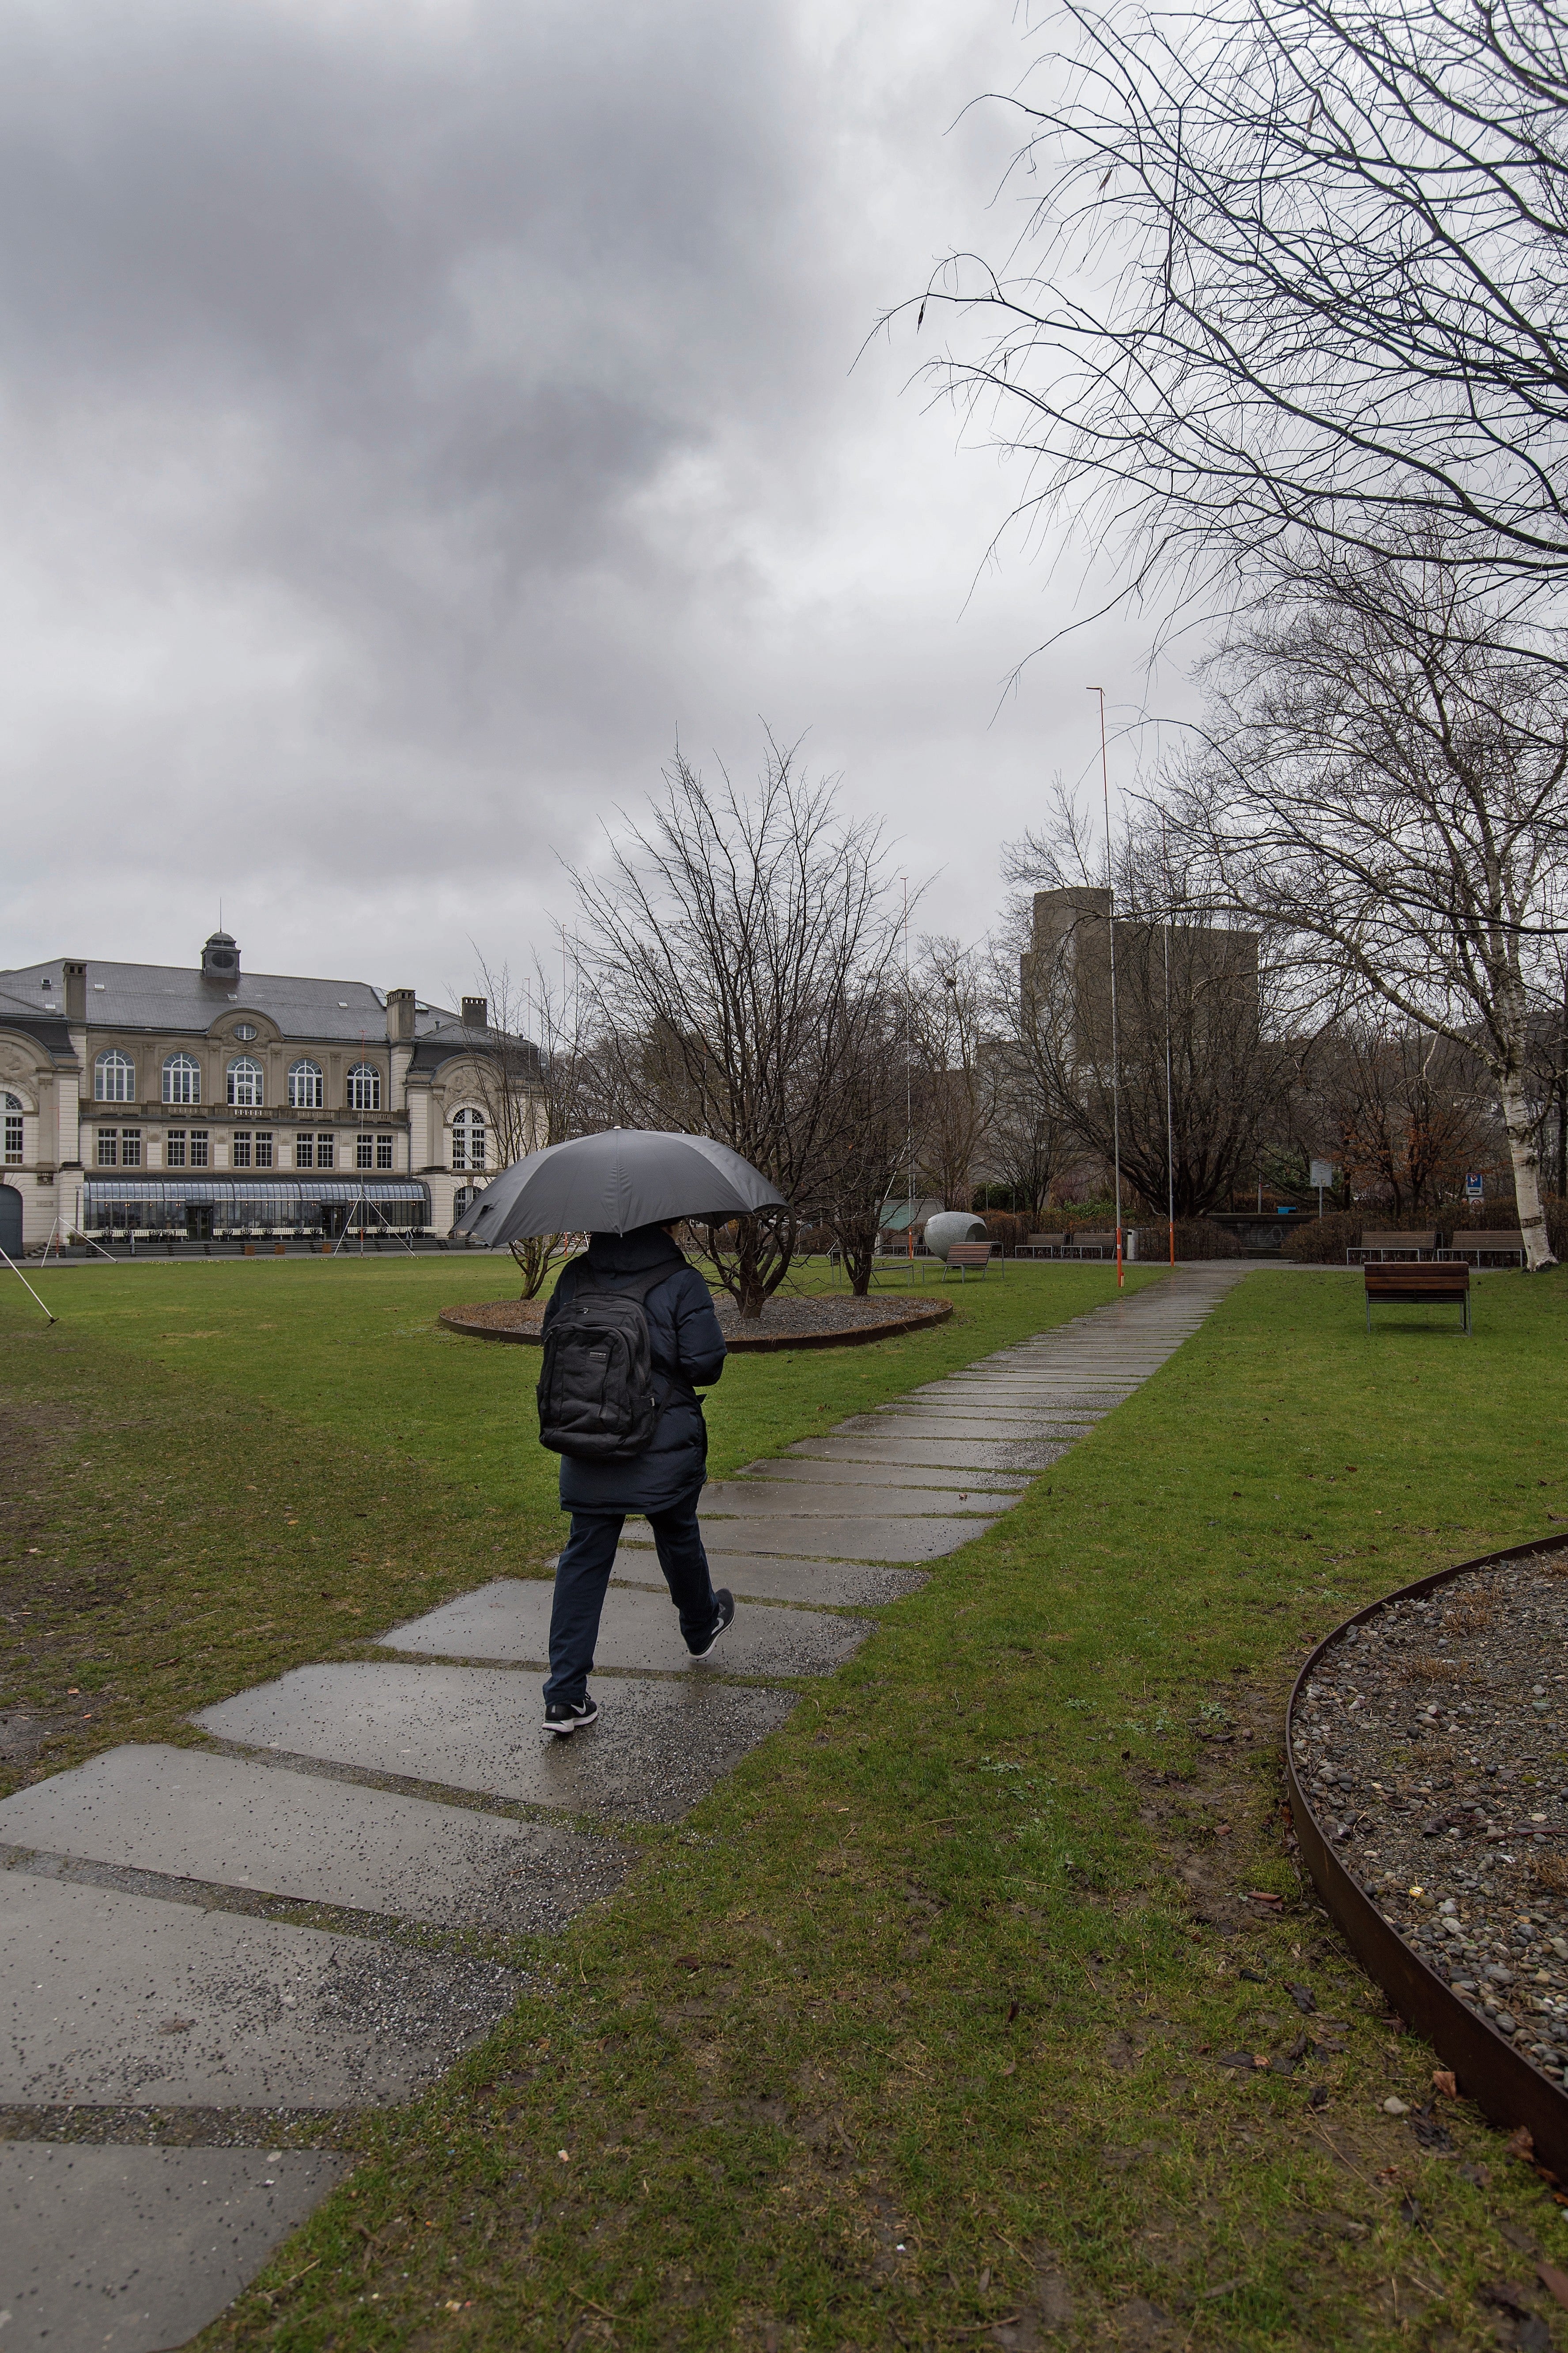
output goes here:
[{"label": "gravel surface inside the rusted rim, right foreground", "polygon": [[1389,1602],[1324,1654],[1295,1772],[1345,1868],[1554,2082],[1568,2061],[1568,1553]]}]

